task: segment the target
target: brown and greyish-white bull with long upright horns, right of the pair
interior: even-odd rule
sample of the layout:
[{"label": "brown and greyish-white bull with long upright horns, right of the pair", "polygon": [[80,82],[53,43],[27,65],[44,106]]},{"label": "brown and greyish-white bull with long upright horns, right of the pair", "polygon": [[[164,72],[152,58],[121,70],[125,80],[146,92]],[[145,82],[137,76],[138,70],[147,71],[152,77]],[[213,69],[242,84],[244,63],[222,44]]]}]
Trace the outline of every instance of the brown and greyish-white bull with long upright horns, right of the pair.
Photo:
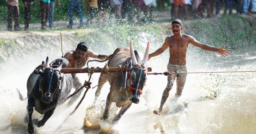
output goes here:
[{"label": "brown and greyish-white bull with long upright horns, right of the pair", "polygon": [[[116,124],[121,116],[130,108],[132,103],[138,104],[140,102],[140,95],[142,94],[143,87],[147,80],[147,60],[149,54],[149,42],[144,54],[144,58],[141,58],[138,52],[133,51],[133,44],[130,41],[129,48],[117,48],[111,60],[108,61],[109,67],[119,67],[119,65],[126,65],[127,61],[132,61],[129,63],[128,75],[126,72],[123,73],[108,73],[107,75],[100,75],[99,84],[109,80],[110,92],[106,100],[106,107],[103,114],[103,119],[106,120],[109,116],[109,111],[112,102],[116,102],[117,107],[122,107],[119,113],[113,118],[112,124]],[[125,80],[126,77],[126,80]],[[126,86],[127,85],[127,86]],[[95,93],[95,99],[98,98],[103,84],[98,86]],[[126,86],[126,87],[125,87]]]}]

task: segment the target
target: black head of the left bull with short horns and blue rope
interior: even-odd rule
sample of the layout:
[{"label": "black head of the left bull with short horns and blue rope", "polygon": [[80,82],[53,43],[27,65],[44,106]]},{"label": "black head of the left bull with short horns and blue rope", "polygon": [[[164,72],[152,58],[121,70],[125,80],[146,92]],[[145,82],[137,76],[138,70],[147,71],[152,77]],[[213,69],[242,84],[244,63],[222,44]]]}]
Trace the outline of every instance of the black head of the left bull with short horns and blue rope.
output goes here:
[{"label": "black head of the left bull with short horns and blue rope", "polygon": [[63,73],[60,72],[62,68],[62,60],[57,68],[52,68],[49,65],[48,57],[45,62],[44,72],[40,70],[39,90],[42,93],[40,100],[45,103],[51,103],[54,96],[60,89],[60,80]]}]

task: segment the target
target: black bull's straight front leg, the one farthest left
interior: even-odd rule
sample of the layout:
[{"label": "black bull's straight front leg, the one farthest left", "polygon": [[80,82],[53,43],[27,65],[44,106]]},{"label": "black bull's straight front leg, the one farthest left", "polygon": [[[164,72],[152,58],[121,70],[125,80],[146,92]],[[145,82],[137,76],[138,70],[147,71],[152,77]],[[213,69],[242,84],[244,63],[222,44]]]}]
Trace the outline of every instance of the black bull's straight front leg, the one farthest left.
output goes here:
[{"label": "black bull's straight front leg, the one farthest left", "polygon": [[27,103],[27,112],[28,112],[28,126],[27,126],[27,132],[28,133],[34,133],[34,126],[33,126],[33,122],[32,122],[32,114],[34,111],[34,103],[35,100],[33,97],[29,97],[28,98],[28,103]]}]

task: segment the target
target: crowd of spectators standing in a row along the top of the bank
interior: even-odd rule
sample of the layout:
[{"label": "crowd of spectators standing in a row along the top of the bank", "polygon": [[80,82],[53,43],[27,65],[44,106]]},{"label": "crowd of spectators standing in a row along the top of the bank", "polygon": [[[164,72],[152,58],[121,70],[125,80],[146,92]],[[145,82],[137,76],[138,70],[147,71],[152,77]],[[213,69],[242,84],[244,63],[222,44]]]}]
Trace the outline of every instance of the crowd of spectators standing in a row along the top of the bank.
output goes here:
[{"label": "crowd of spectators standing in a row along the top of the bank", "polygon": [[[256,0],[169,0],[170,8],[166,9],[165,0],[84,0],[87,9],[87,19],[84,24],[83,12],[80,0],[69,0],[68,15],[69,25],[66,28],[73,28],[74,10],[79,16],[80,26],[83,28],[92,25],[92,20],[97,18],[99,25],[106,25],[107,21],[115,20],[116,23],[150,23],[152,22],[152,11],[154,7],[158,10],[171,11],[172,19],[190,19],[191,17],[201,18],[203,16],[219,16],[221,6],[224,14],[233,15],[232,10],[236,9],[236,15],[256,13]],[[12,30],[12,19],[14,19],[14,30],[21,30],[19,26],[18,0],[6,0],[8,8],[7,30]],[[24,30],[27,30],[31,18],[31,4],[35,0],[23,0],[24,3]],[[41,7],[41,29],[46,30],[53,27],[55,0],[39,0]],[[57,7],[60,1],[57,0]],[[206,13],[204,13],[206,11]],[[191,16],[191,12],[192,16]],[[203,14],[204,13],[204,14]],[[205,15],[206,14],[206,15]],[[103,19],[102,19],[103,18]],[[85,25],[85,26],[84,26]]]}]

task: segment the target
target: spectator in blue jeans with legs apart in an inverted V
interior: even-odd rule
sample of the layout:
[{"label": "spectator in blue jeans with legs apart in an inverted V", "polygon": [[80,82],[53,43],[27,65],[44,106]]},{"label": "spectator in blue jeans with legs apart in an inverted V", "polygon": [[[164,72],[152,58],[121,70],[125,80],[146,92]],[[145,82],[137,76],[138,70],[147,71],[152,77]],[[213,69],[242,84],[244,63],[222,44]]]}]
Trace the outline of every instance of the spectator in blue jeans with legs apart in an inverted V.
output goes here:
[{"label": "spectator in blue jeans with legs apart in an inverted V", "polygon": [[82,28],[84,26],[84,20],[83,20],[83,12],[81,10],[81,5],[80,5],[80,0],[70,0],[69,1],[69,8],[68,8],[68,13],[69,13],[69,25],[67,28],[72,29],[73,28],[73,9],[74,6],[76,6],[76,12],[80,17],[80,26],[77,28]]}]

